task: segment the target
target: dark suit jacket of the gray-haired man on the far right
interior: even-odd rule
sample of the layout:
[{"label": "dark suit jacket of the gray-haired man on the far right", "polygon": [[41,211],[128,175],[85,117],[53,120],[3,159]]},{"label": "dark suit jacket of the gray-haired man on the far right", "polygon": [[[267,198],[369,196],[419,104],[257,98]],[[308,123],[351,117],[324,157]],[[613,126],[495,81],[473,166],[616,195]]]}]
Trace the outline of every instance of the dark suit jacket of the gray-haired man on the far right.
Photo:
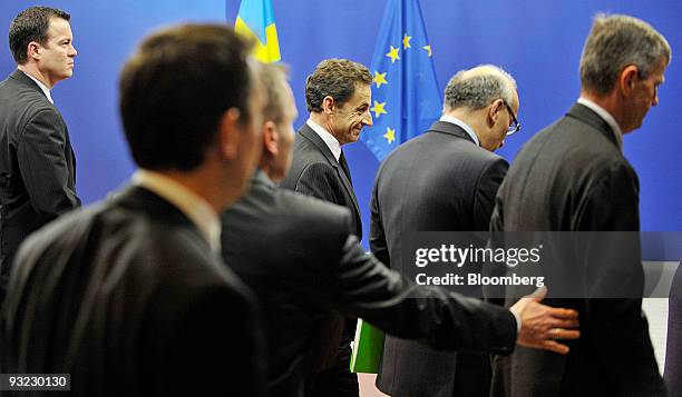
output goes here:
[{"label": "dark suit jacket of the gray-haired man on the far right", "polygon": [[[490,227],[494,231],[637,231],[637,176],[608,125],[590,108],[575,105],[538,132],[509,168]],[[572,260],[559,259],[552,267],[566,280],[579,275],[585,298],[546,302],[578,311],[581,338],[568,343],[566,356],[519,348],[510,358],[497,360],[495,394],[664,396],[642,299],[590,298],[616,275],[623,290],[642,296],[639,237],[630,247],[606,252],[596,240],[575,249]],[[547,286],[552,295],[553,287]],[[508,294],[507,305],[516,295]]]}]

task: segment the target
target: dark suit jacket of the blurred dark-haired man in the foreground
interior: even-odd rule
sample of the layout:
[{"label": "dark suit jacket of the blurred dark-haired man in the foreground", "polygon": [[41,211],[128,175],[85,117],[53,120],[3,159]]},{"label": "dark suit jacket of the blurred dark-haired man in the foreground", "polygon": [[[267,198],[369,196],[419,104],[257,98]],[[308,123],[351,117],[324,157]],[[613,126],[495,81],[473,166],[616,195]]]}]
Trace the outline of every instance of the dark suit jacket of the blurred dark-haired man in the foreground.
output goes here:
[{"label": "dark suit jacket of the blurred dark-haired man in the foreground", "polygon": [[70,374],[75,396],[261,395],[252,294],[152,191],[61,218],[16,264],[0,373]]}]

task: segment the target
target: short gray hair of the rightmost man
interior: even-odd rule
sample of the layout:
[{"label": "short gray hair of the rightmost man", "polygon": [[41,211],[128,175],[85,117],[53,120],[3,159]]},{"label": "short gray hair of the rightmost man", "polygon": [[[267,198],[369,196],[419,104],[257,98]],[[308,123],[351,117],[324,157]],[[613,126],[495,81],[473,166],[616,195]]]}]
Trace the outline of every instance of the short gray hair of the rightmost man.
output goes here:
[{"label": "short gray hair of the rightmost man", "polygon": [[581,57],[581,85],[606,95],[626,66],[636,66],[640,78],[645,79],[661,60],[669,63],[671,57],[668,40],[651,24],[629,16],[600,13]]}]

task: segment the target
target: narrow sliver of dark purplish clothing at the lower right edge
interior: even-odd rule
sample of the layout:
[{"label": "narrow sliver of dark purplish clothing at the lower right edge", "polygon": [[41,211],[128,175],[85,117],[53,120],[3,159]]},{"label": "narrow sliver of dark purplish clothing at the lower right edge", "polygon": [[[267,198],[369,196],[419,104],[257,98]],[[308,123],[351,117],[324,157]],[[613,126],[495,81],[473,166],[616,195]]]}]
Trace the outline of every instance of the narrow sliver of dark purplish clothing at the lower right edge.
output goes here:
[{"label": "narrow sliver of dark purplish clothing at the lower right edge", "polygon": [[670,287],[665,384],[670,397],[682,397],[682,261]]}]

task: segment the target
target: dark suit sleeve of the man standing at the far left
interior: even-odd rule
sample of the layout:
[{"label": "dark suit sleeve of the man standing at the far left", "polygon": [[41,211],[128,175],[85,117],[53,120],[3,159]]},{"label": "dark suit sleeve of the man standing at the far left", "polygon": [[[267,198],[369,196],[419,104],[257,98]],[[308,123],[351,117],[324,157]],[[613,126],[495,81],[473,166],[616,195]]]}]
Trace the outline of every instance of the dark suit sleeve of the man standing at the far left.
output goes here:
[{"label": "dark suit sleeve of the man standing at the far left", "polygon": [[68,186],[65,146],[64,121],[53,110],[38,112],[18,145],[17,158],[31,205],[47,219],[80,206],[76,191]]}]

